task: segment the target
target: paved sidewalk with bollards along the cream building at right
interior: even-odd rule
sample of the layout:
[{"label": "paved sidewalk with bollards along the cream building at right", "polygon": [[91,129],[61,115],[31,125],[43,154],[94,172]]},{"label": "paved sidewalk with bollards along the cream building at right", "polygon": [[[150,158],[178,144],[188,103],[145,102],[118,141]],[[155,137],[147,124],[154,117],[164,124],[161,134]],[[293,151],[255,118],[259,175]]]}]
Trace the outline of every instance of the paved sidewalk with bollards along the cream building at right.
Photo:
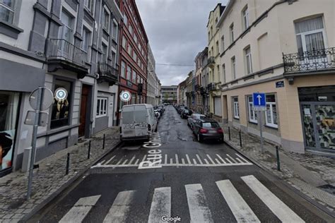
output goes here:
[{"label": "paved sidewalk with bollards along the cream building at right", "polygon": [[307,195],[307,198],[317,201],[324,210],[335,216],[335,158],[311,153],[286,152],[280,148],[281,171],[278,171],[276,145],[264,142],[264,153],[262,153],[258,137],[241,133],[242,147],[240,147],[239,130],[230,127],[231,140],[229,140],[228,126],[220,124],[228,145]]}]

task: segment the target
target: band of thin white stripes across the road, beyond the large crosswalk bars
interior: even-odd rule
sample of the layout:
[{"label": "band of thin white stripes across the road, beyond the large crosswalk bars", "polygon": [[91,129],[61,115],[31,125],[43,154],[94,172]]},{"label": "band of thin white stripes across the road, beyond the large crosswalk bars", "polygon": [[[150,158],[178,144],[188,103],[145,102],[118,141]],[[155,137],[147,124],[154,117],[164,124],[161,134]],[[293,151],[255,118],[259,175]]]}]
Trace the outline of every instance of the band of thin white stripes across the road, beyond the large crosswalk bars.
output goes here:
[{"label": "band of thin white stripes across the road, beyond the large crosswalk bars", "polygon": [[[199,154],[184,154],[184,155],[162,155],[159,163],[162,167],[229,167],[229,166],[245,166],[252,165],[247,159],[235,153],[235,155],[204,155]],[[234,156],[234,157],[233,157]],[[117,167],[139,167],[141,162],[145,162],[147,155],[126,155],[117,157],[114,155],[110,159],[102,160],[94,168],[117,168]]]}]

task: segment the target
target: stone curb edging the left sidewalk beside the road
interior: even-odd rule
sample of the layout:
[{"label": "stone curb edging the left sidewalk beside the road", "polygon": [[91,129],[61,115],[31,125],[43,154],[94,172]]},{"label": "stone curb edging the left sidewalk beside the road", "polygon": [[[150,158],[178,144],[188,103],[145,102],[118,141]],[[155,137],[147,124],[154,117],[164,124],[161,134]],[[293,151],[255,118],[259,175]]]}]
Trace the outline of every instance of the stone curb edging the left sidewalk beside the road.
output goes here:
[{"label": "stone curb edging the left sidewalk beside the road", "polygon": [[114,147],[112,147],[110,150],[106,150],[106,152],[102,153],[102,155],[100,155],[97,159],[95,159],[93,162],[90,162],[90,164],[88,164],[86,167],[84,167],[84,169],[82,169],[81,171],[79,171],[74,177],[72,177],[71,179],[69,179],[69,181],[67,181],[66,183],[64,183],[60,188],[57,189],[57,191],[55,191],[54,193],[52,193],[52,195],[50,195],[47,199],[43,200],[42,203],[40,203],[39,205],[37,205],[31,212],[29,212],[28,214],[26,214],[25,216],[23,216],[23,218],[20,219],[19,222],[27,222],[31,217],[33,217],[33,215],[35,215],[37,212],[39,212],[42,209],[42,207],[45,207],[45,205],[47,205],[48,203],[52,202],[52,200],[54,200],[54,198],[56,198],[57,195],[59,195],[66,188],[68,188],[71,185],[71,183],[74,183],[74,181],[76,181],[79,177],[83,176],[83,174],[85,174],[86,171],[88,171],[91,166],[93,166],[100,159],[102,159],[103,157],[105,157],[106,155],[108,155],[110,152],[112,152],[113,150],[115,150],[121,144],[122,144],[122,142],[121,142],[121,140],[119,140],[119,142],[116,145],[114,145]]}]

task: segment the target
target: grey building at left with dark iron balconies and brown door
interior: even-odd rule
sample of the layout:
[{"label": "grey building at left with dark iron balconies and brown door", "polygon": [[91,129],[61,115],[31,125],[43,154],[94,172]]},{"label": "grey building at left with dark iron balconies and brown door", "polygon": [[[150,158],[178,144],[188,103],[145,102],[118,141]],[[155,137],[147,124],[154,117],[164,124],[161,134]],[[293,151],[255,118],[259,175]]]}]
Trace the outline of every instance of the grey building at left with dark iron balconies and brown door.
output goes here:
[{"label": "grey building at left with dark iron balconies and brown door", "polygon": [[8,141],[2,176],[29,157],[33,126],[25,117],[37,87],[65,92],[45,110],[37,161],[112,126],[122,14],[112,0],[7,0],[0,8],[0,137]]}]

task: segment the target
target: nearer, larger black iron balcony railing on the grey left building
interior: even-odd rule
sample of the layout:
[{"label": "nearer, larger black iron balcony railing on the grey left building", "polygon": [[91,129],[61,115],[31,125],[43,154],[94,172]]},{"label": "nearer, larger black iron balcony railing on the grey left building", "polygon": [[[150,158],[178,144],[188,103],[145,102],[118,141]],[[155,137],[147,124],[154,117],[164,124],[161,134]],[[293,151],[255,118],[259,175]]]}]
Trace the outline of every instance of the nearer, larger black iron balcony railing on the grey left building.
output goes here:
[{"label": "nearer, larger black iron balcony railing on the grey left building", "polygon": [[47,42],[48,59],[63,59],[71,63],[84,66],[87,54],[83,49],[63,39],[49,39]]}]

